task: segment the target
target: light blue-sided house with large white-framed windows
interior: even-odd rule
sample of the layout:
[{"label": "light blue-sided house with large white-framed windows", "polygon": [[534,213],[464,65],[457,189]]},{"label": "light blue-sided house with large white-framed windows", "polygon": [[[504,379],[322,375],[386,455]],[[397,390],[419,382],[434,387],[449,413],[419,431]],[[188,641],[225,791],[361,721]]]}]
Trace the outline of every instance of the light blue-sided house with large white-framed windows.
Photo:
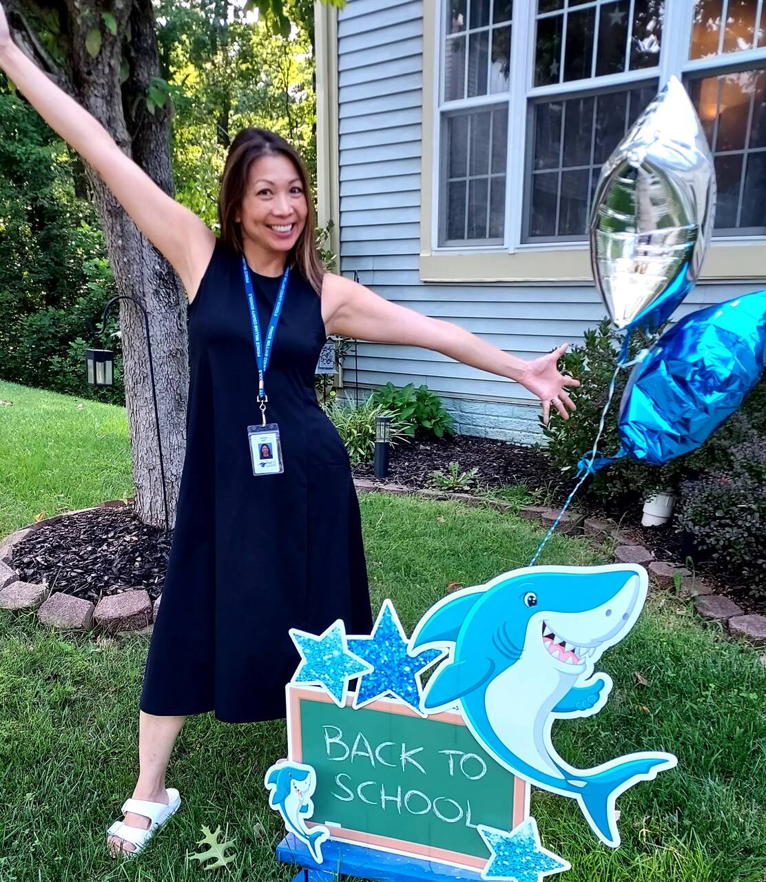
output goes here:
[{"label": "light blue-sided house with large white-framed windows", "polygon": [[[721,23],[725,22],[725,27]],[[680,308],[766,278],[766,3],[346,0],[316,5],[320,222],[341,273],[525,358],[605,315],[586,225],[606,160],[676,74],[710,138],[718,212]],[[354,360],[345,366],[354,381]],[[360,343],[358,383],[425,383],[470,435],[529,442],[519,385]]]}]

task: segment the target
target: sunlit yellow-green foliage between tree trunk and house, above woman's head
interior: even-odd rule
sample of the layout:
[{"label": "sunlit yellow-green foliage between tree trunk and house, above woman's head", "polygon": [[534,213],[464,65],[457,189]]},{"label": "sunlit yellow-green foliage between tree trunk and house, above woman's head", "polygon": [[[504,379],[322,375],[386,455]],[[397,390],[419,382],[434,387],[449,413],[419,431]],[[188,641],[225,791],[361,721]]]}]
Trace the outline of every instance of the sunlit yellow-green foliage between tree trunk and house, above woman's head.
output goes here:
[{"label": "sunlit yellow-green foliage between tree trunk and house, above woman's head", "polygon": [[213,229],[228,146],[248,126],[294,144],[316,179],[313,11],[308,26],[305,9],[280,8],[300,23],[286,36],[274,33],[273,17],[256,18],[225,0],[161,0],[158,7],[160,56],[175,107],[176,197]]}]

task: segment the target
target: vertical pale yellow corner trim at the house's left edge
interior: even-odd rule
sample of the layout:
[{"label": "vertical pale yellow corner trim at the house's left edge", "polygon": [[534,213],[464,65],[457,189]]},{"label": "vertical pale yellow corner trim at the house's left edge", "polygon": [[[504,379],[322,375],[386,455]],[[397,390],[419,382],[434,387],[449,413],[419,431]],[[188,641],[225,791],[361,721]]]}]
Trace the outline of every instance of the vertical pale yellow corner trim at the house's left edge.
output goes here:
[{"label": "vertical pale yellow corner trim at the house's left edge", "polygon": [[317,221],[335,224],[330,247],[340,250],[340,172],[338,134],[338,10],[314,4],[316,49],[316,202]]}]

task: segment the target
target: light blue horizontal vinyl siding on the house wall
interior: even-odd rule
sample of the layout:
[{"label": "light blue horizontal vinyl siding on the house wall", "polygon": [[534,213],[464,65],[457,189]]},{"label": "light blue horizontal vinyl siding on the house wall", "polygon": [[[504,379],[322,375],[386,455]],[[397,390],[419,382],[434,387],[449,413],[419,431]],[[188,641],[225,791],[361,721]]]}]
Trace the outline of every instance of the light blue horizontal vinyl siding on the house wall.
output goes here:
[{"label": "light blue horizontal vinyl siding on the house wall", "polygon": [[[338,14],[341,273],[356,272],[392,303],[453,322],[523,358],[576,343],[605,315],[593,286],[419,280],[422,14],[420,0],[347,0]],[[698,286],[678,316],[759,287]],[[538,408],[524,388],[438,353],[360,343],[357,360],[346,359],[346,385],[354,383],[356,363],[361,387],[427,384],[466,433],[531,440],[539,431]]]}]

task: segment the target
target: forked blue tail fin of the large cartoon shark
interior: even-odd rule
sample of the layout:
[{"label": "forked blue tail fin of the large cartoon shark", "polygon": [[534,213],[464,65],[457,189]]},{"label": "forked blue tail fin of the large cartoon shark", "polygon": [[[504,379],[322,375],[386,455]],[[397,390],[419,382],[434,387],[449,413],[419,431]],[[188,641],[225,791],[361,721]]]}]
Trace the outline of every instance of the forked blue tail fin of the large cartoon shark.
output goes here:
[{"label": "forked blue tail fin of the large cartoon shark", "polygon": [[614,818],[617,797],[638,781],[652,781],[659,772],[673,768],[677,762],[671,753],[636,753],[585,779],[577,801],[601,841],[612,848],[620,846],[620,833]]}]

